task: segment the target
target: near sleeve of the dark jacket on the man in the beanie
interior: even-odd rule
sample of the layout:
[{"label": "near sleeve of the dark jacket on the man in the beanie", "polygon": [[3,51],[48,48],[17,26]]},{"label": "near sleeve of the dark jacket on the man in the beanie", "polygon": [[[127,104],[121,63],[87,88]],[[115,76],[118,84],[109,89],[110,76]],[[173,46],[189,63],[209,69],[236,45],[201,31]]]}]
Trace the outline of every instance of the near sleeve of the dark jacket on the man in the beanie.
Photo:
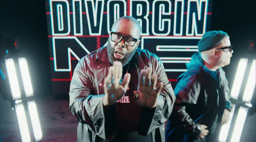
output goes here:
[{"label": "near sleeve of the dark jacket on the man in the beanie", "polygon": [[196,76],[183,74],[179,77],[177,85],[174,89],[176,101],[173,108],[173,118],[177,128],[184,131],[186,134],[198,136],[201,132],[200,124],[189,116],[186,106],[196,104],[200,94],[200,82]]}]

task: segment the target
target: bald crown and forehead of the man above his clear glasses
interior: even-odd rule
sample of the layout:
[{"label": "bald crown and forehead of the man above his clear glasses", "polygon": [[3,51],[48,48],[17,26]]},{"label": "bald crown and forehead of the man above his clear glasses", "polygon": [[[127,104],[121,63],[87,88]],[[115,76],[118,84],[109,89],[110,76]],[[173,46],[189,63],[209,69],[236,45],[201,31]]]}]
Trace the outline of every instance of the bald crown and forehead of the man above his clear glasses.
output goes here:
[{"label": "bald crown and forehead of the man above his clear glasses", "polygon": [[111,27],[111,31],[113,32],[131,32],[132,35],[126,35],[126,36],[132,36],[134,38],[140,38],[141,36],[141,27],[140,23],[136,20],[136,18],[133,17],[121,17],[118,18],[114,22],[114,24]]}]

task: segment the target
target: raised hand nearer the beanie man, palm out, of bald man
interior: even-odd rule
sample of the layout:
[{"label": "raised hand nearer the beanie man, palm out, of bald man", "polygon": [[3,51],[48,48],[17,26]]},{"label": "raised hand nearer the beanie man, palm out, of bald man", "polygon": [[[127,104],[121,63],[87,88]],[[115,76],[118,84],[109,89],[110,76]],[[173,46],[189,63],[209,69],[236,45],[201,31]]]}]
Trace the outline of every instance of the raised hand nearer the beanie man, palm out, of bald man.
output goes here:
[{"label": "raised hand nearer the beanie man, palm out, of bald man", "polygon": [[163,89],[163,83],[157,82],[157,76],[151,74],[151,68],[142,69],[138,88],[133,92],[135,103],[147,108],[155,108],[157,106],[157,99]]}]

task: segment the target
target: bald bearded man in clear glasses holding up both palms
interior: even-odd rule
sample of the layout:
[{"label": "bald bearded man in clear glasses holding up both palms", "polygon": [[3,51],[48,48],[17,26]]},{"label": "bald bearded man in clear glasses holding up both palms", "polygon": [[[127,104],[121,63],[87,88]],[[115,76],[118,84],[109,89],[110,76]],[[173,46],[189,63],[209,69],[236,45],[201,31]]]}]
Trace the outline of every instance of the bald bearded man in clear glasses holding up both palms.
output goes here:
[{"label": "bald bearded man in clear glasses holding up both palms", "polygon": [[113,24],[107,46],[79,61],[70,83],[77,141],[164,141],[175,101],[159,57],[138,48],[132,17]]}]

